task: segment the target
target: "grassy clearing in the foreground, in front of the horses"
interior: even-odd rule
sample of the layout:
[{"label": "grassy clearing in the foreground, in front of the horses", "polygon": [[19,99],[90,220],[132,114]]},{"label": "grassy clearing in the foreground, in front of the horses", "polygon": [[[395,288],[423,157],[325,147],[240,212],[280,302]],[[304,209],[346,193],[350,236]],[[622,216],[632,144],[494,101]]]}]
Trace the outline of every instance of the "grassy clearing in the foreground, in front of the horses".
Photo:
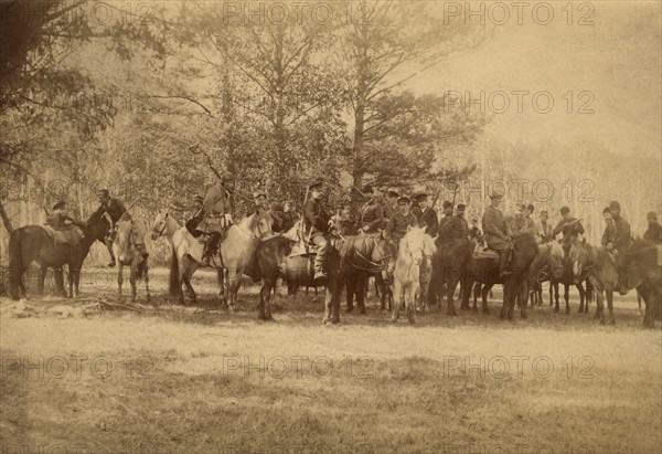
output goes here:
[{"label": "grassy clearing in the foreground, in front of the horses", "polygon": [[[194,285],[213,308],[213,275]],[[573,293],[570,315],[545,302],[501,321],[493,300],[415,326],[371,298],[327,327],[312,294],[265,324],[254,287],[235,313],[196,313],[164,298],[164,271],[152,286],[140,313],[62,319],[45,309],[68,302],[45,297],[0,319],[2,453],[662,452],[662,335],[632,295],[615,326]]]}]

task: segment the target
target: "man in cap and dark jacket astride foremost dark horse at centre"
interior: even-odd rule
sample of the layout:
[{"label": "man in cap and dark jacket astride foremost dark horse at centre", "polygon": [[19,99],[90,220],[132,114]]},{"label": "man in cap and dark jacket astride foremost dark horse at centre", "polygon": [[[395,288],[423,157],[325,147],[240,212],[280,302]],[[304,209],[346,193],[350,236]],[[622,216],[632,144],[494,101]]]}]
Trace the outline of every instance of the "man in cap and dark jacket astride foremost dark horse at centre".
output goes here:
[{"label": "man in cap and dark jacket astride foremost dark horse at centre", "polygon": [[319,246],[318,253],[314,257],[314,279],[327,277],[324,268],[327,250],[329,247],[329,241],[327,234],[329,233],[330,217],[322,208],[320,201],[322,199],[322,182],[316,181],[308,187],[310,191],[310,198],[303,204],[303,219],[306,235],[310,236],[312,242]]}]

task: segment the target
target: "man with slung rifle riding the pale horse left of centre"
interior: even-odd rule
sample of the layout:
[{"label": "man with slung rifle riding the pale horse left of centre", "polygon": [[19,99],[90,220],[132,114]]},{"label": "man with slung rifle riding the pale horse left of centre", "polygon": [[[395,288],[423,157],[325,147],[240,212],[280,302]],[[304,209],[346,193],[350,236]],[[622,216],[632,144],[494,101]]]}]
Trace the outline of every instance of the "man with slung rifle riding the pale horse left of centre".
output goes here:
[{"label": "man with slung rifle riding the pale horse left of centre", "polygon": [[232,223],[232,215],[228,211],[231,210],[229,190],[233,183],[233,175],[223,173],[222,178],[207,189],[202,202],[204,218],[199,230],[209,235],[202,252],[202,260],[207,266],[218,242]]}]

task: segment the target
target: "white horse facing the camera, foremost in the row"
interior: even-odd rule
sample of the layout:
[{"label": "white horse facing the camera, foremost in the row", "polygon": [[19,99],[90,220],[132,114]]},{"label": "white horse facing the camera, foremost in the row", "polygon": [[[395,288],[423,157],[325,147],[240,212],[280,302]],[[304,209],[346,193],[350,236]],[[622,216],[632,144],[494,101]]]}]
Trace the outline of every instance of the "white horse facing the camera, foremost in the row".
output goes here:
[{"label": "white horse facing the camera, foremost in the row", "polygon": [[407,319],[414,323],[416,314],[416,295],[420,286],[420,264],[423,263],[423,250],[425,228],[407,226],[407,233],[399,241],[395,268],[393,271],[393,316],[391,321],[396,323],[399,318],[401,307],[405,306]]}]

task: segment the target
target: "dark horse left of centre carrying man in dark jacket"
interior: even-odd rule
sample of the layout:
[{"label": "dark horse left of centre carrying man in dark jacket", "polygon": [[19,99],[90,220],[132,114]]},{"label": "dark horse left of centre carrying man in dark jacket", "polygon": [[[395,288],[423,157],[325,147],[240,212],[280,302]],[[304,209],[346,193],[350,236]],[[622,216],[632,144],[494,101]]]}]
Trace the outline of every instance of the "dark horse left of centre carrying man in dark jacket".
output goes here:
[{"label": "dark horse left of centre carrying man in dark jacket", "polygon": [[[324,295],[324,324],[338,324],[340,321],[340,296],[344,283],[344,274],[340,268],[340,252],[342,240],[330,240],[327,254],[325,279],[327,292]],[[319,281],[313,279],[313,254],[296,255],[290,257],[293,243],[286,236],[274,236],[263,241],[257,246],[257,266],[263,286],[259,292],[260,320],[273,320],[271,316],[271,289],[278,277],[296,285],[316,286]]]}]

